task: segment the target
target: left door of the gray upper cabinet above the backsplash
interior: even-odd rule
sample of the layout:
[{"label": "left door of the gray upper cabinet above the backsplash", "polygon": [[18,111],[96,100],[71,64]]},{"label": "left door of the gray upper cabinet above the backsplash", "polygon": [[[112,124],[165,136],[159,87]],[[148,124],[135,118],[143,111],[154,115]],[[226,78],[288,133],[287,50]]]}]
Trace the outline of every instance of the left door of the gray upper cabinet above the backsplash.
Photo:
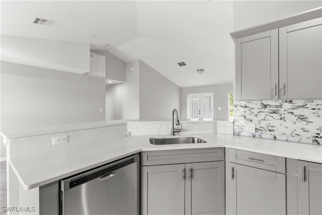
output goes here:
[{"label": "left door of the gray upper cabinet above the backsplash", "polygon": [[235,41],[235,100],[278,99],[278,29]]}]

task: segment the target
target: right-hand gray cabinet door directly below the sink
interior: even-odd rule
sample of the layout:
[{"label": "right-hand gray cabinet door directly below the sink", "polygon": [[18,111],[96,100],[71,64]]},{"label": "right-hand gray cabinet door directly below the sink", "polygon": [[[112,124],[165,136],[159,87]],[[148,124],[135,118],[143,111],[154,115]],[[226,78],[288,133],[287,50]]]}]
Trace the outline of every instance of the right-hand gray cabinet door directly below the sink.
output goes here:
[{"label": "right-hand gray cabinet door directly below the sink", "polygon": [[186,214],[225,214],[225,163],[186,164]]}]

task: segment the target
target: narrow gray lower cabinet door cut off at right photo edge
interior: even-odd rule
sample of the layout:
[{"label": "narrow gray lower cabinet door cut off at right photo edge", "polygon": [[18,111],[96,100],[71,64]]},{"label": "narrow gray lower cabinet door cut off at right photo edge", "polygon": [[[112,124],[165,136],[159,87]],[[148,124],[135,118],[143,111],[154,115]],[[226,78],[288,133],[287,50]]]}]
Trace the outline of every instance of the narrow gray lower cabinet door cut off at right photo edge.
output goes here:
[{"label": "narrow gray lower cabinet door cut off at right photo edge", "polygon": [[297,161],[298,214],[322,214],[322,164]]}]

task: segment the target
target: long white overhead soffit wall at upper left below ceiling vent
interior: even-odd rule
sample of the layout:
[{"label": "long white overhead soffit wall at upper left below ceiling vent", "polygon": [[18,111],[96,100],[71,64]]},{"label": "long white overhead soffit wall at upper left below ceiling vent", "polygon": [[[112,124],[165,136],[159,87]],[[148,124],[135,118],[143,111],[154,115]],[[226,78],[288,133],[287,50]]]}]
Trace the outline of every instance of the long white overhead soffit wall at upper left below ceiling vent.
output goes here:
[{"label": "long white overhead soffit wall at upper left below ceiling vent", "polygon": [[90,44],[1,35],[1,60],[84,74],[90,71]]}]

